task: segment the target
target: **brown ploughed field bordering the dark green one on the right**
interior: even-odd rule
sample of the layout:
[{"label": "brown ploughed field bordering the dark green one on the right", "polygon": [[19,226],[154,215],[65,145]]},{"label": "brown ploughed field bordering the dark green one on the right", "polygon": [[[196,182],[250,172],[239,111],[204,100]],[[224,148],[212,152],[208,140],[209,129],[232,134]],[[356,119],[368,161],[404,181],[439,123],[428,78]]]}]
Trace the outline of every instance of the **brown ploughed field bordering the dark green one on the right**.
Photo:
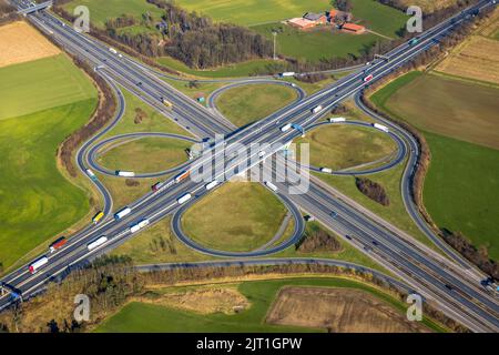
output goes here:
[{"label": "brown ploughed field bordering the dark green one on the right", "polygon": [[499,149],[498,97],[497,88],[416,72],[373,101],[424,131]]}]

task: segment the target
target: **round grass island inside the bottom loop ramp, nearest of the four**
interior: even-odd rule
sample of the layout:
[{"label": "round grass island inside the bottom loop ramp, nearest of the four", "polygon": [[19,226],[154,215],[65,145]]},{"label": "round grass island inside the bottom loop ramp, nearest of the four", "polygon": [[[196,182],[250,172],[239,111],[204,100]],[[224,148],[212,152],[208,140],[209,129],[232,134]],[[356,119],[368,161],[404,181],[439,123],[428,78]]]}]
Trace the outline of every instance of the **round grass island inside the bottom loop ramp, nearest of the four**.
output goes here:
[{"label": "round grass island inside the bottom loop ramp, nearest of the four", "polygon": [[257,183],[225,184],[185,212],[185,234],[204,246],[224,251],[253,251],[272,240],[286,209]]}]

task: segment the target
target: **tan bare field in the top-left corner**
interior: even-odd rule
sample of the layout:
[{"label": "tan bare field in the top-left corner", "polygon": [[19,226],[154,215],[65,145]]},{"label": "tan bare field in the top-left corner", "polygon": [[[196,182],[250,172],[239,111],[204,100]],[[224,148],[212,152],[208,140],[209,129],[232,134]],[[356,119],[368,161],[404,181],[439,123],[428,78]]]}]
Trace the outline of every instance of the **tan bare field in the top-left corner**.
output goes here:
[{"label": "tan bare field in the top-left corner", "polygon": [[47,41],[27,22],[0,27],[0,68],[59,54],[59,48]]}]

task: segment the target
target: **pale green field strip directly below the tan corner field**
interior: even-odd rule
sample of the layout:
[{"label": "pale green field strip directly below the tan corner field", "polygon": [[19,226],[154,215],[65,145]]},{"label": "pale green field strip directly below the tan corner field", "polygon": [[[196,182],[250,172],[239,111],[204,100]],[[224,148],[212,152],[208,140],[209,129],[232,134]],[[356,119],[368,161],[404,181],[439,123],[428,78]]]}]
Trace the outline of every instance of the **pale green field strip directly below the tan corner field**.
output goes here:
[{"label": "pale green field strip directly below the tan corner field", "polygon": [[0,120],[95,98],[64,54],[0,69]]}]

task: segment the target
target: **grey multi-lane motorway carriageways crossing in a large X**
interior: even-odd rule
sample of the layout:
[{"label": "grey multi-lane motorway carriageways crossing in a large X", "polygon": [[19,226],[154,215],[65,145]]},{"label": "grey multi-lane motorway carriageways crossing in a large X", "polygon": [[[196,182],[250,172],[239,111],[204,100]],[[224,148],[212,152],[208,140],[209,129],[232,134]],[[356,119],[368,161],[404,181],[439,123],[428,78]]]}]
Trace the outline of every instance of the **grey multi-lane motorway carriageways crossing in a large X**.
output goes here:
[{"label": "grey multi-lane motorway carriageways crossing in a large X", "polygon": [[[492,6],[491,1],[480,1],[472,10],[490,6]],[[434,45],[438,39],[446,36],[454,27],[459,26],[467,17],[468,13],[459,13],[419,36],[417,44],[406,43],[387,53],[386,57],[389,58],[389,61],[376,60],[370,65],[316,94],[236,132],[231,132],[233,128],[223,118],[213,115],[191,99],[156,79],[151,71],[133,59],[128,57],[116,58],[102,43],[77,33],[69,26],[62,26],[59,19],[49,13],[34,13],[28,18],[41,30],[52,36],[68,51],[88,60],[94,67],[101,68],[99,71],[105,78],[129,88],[142,100],[162,112],[165,112],[165,108],[160,102],[160,98],[166,98],[173,103],[173,116],[177,120],[176,122],[183,126],[189,125],[191,131],[198,136],[225,133],[227,136],[226,152],[231,152],[231,148],[236,142],[243,144],[252,142],[275,144],[275,148],[267,152],[267,155],[271,155],[298,134],[295,131],[281,132],[278,130],[281,125],[293,122],[304,128],[310,126],[324,112],[310,114],[312,109],[322,105],[324,110],[327,110],[342,100],[352,97],[365,87],[363,79],[366,75],[373,74],[374,80],[376,80],[388,74]],[[255,158],[249,156],[248,160],[254,161]],[[192,168],[201,164],[203,159],[205,158],[194,161]],[[262,159],[256,159],[256,161]],[[242,162],[237,160],[224,161],[224,172],[233,172],[240,163]],[[432,300],[450,317],[476,332],[497,332],[499,329],[498,303],[480,288],[479,275],[473,270],[441,257],[413,239],[406,239],[380,219],[369,216],[343,199],[338,199],[334,192],[314,179],[312,179],[310,187],[305,194],[287,195],[288,183],[276,184],[278,194],[288,197],[302,210],[315,215],[327,227],[346,237],[353,245],[400,276],[404,282],[426,298]],[[165,215],[173,213],[179,209],[176,199],[186,192],[197,195],[192,199],[191,203],[206,193],[204,185],[185,180],[155,194],[149,194],[132,205],[133,212],[124,220],[106,220],[100,225],[88,226],[75,234],[60,252],[49,257],[48,265],[39,273],[31,275],[27,272],[27,267],[22,267],[4,277],[2,282],[20,290],[24,296],[30,296],[42,290],[48,280],[65,273],[71,265],[85,261],[130,237],[129,226],[131,224],[142,219],[149,219],[151,224],[154,224]],[[337,216],[333,217],[330,211],[337,211]],[[86,244],[100,235],[109,237],[108,244],[89,252]],[[8,296],[1,297],[0,308],[9,303]]]}]

